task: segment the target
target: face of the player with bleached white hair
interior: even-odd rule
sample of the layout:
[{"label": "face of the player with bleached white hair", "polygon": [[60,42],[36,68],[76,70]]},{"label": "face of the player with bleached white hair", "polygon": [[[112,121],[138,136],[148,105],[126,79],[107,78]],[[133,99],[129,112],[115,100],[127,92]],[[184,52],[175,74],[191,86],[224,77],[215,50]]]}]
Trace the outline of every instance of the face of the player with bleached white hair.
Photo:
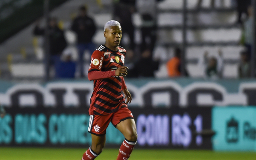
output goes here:
[{"label": "face of the player with bleached white hair", "polygon": [[[111,26],[104,31],[107,47],[116,48],[122,38],[122,29],[120,26]],[[110,48],[110,49],[111,49]]]}]

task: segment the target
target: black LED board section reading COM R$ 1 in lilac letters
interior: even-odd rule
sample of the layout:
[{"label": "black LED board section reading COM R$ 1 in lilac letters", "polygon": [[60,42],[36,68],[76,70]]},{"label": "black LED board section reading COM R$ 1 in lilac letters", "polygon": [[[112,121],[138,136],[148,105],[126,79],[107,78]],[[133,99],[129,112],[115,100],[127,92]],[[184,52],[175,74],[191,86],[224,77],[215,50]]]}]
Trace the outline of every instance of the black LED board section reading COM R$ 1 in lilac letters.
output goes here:
[{"label": "black LED board section reading COM R$ 1 in lilac letters", "polygon": [[[133,111],[133,110],[132,110]],[[211,128],[211,108],[134,109],[138,146],[211,149],[211,138],[196,134]]]}]

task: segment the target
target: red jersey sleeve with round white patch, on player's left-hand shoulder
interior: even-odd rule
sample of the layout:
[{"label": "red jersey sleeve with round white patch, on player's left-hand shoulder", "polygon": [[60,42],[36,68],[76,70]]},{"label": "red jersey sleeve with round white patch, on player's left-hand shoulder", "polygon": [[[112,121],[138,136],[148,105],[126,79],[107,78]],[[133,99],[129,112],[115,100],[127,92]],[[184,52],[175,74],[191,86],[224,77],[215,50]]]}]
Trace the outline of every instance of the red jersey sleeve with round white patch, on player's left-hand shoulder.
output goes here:
[{"label": "red jersey sleeve with round white patch, on player's left-hand shoulder", "polygon": [[101,51],[95,50],[91,56],[91,63],[89,66],[88,73],[94,70],[101,71],[104,55]]}]

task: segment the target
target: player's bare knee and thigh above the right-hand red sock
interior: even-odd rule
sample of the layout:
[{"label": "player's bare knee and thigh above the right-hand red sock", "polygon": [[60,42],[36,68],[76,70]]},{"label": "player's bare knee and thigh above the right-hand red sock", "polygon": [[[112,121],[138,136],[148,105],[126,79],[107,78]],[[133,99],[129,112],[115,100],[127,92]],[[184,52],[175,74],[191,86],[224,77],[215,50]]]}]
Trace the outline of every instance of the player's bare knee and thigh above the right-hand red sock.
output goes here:
[{"label": "player's bare knee and thigh above the right-hand red sock", "polygon": [[124,135],[126,139],[136,141],[137,130],[133,118],[128,118],[126,120],[121,121],[116,125],[116,128]]}]

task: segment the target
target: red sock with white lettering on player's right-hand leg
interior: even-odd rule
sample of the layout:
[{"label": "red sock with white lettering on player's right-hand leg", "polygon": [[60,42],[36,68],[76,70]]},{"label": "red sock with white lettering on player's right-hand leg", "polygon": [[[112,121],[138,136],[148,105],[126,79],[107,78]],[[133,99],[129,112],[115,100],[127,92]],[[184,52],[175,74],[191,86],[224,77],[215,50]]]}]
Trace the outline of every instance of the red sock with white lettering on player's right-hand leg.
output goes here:
[{"label": "red sock with white lettering on player's right-hand leg", "polygon": [[135,144],[136,142],[131,142],[125,139],[119,148],[119,154],[116,160],[128,160]]}]

